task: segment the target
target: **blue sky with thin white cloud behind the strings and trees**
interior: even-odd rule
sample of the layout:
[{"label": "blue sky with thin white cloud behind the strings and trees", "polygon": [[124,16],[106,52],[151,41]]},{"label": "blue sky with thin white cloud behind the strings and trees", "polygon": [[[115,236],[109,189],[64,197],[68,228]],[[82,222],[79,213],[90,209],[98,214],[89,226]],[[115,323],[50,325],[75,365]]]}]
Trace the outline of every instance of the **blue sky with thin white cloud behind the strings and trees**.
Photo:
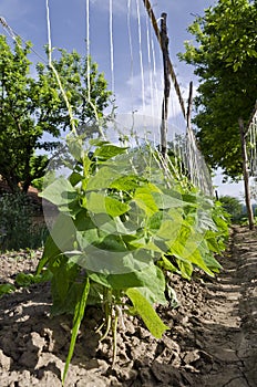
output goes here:
[{"label": "blue sky with thin white cloud behind the strings and trees", "polygon": [[[177,59],[184,41],[192,40],[188,25],[215,0],[152,0],[160,23],[167,13],[169,56],[183,98],[188,97],[189,82],[197,87],[193,66]],[[111,4],[111,6],[110,6]],[[110,7],[112,12],[110,12]],[[90,12],[86,12],[86,11]],[[99,64],[115,95],[115,104],[125,126],[127,117],[158,127],[163,94],[162,55],[142,0],[49,0],[52,46],[88,52]],[[140,14],[140,18],[138,18]],[[0,17],[24,41],[33,43],[32,62],[47,61],[48,43],[45,0],[1,0]],[[7,31],[0,27],[0,33]],[[88,39],[88,40],[86,40]],[[9,38],[11,41],[11,38]],[[53,53],[54,56],[54,53]],[[172,91],[169,119],[174,133],[185,129],[181,107]],[[128,124],[127,124],[128,125]],[[153,130],[154,132],[154,130]],[[214,179],[219,195],[240,196],[243,186],[223,185],[220,171]]]}]

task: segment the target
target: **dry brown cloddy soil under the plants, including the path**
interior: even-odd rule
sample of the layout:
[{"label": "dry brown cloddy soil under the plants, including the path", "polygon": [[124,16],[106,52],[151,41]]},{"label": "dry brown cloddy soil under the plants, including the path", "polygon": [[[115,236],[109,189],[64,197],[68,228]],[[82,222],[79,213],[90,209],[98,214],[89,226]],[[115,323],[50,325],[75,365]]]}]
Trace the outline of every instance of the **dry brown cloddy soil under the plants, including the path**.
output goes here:
[{"label": "dry brown cloddy soil under the plants, including the path", "polygon": [[[2,254],[0,283],[32,272],[41,252]],[[29,257],[28,257],[29,255]],[[169,326],[162,339],[136,317],[119,326],[112,368],[111,337],[99,343],[101,312],[86,310],[66,387],[257,386],[257,230],[234,227],[214,279],[171,276],[178,306],[157,308]],[[0,386],[61,386],[71,316],[50,317],[50,284],[20,289],[0,300]]]}]

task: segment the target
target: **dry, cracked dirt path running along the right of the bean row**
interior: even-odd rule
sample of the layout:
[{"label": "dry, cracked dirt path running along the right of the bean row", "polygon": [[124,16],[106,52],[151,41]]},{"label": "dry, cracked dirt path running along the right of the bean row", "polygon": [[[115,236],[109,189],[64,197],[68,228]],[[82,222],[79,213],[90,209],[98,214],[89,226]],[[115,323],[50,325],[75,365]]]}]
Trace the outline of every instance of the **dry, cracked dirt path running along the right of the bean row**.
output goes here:
[{"label": "dry, cracked dirt path running along the right of the bean row", "polygon": [[[230,255],[230,257],[229,257]],[[257,231],[234,228],[228,260],[208,285],[196,343],[212,364],[196,365],[206,387],[257,386]],[[206,359],[207,360],[207,359]]]}]

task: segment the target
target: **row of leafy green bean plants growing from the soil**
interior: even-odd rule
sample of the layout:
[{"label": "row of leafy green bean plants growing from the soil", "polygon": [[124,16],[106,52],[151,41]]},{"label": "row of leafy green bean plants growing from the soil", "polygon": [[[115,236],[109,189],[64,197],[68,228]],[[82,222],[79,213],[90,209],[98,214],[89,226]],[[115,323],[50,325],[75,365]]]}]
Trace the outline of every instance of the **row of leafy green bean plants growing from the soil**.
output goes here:
[{"label": "row of leafy green bean plants growing from the soil", "polygon": [[167,272],[214,276],[220,269],[215,254],[228,237],[222,205],[179,179],[150,145],[84,143],[83,135],[66,137],[41,194],[59,215],[35,278],[45,270],[51,278],[52,314],[73,315],[63,384],[86,305],[103,308],[103,337],[112,331],[115,363],[119,316],[140,315],[161,338],[168,327],[155,306],[173,294]]}]

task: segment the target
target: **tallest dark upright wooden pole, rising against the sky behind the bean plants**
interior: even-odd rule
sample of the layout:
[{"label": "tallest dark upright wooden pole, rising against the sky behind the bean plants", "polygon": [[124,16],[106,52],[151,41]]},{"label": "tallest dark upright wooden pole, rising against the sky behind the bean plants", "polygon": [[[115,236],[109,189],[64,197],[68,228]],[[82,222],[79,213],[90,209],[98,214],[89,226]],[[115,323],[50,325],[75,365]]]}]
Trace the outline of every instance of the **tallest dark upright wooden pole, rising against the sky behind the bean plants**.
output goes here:
[{"label": "tallest dark upright wooden pole, rising against the sky behind the bean plants", "polygon": [[161,22],[161,43],[163,52],[163,73],[164,73],[164,95],[162,105],[162,124],[161,124],[161,153],[166,157],[167,153],[167,117],[168,117],[168,100],[171,93],[171,81],[168,73],[168,36],[167,36],[167,14],[162,13]]}]

